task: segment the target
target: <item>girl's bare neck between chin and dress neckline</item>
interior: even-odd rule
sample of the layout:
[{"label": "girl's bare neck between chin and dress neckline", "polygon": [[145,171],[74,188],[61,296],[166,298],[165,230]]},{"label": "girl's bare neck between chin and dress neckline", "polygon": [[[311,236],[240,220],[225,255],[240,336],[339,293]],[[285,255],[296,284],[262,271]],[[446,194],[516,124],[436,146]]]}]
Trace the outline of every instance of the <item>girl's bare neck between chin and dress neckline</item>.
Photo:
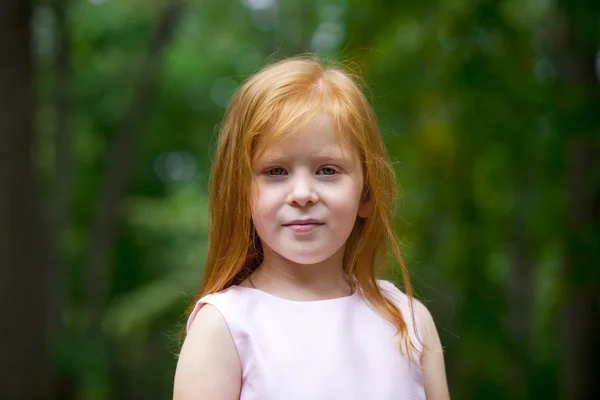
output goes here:
[{"label": "girl's bare neck between chin and dress neckline", "polygon": [[298,264],[264,247],[264,260],[252,275],[256,288],[281,297],[311,300],[347,296],[352,287],[342,267],[344,247],[317,264]]}]

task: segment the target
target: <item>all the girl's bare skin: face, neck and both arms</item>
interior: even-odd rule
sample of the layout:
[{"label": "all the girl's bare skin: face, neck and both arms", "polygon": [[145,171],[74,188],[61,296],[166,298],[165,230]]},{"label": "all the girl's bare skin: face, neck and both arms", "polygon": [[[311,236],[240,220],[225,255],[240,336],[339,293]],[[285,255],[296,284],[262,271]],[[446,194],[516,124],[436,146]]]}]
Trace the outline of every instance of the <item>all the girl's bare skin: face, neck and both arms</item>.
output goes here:
[{"label": "all the girl's bare skin: face, neck and both arms", "polygon": [[[260,145],[260,143],[259,143]],[[368,217],[361,203],[363,172],[352,149],[339,143],[332,119],[321,114],[300,132],[284,136],[254,160],[252,218],[261,238],[264,262],[251,276],[254,286],[295,301],[351,294],[344,276],[345,242],[356,217]],[[292,220],[314,218],[321,225],[297,233]],[[431,314],[415,301],[423,341],[427,399],[447,399],[443,353]],[[210,379],[200,377],[209,376]],[[175,374],[174,399],[239,399],[241,364],[222,315],[204,306],[188,332]]]}]

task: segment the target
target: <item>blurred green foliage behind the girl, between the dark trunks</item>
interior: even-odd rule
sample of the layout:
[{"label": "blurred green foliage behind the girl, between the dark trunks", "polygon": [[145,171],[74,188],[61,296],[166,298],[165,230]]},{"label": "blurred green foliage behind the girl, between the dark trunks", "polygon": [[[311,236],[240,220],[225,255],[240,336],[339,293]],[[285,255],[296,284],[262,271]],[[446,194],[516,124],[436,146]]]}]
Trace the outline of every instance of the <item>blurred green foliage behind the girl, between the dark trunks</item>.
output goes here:
[{"label": "blurred green foliage behind the girl, between the dark trunks", "polygon": [[[38,8],[39,168],[51,187],[56,21],[47,6]],[[557,313],[573,290],[562,279],[572,240],[591,255],[574,274],[600,282],[598,228],[575,235],[564,223],[565,146],[600,124],[592,89],[560,76],[562,50],[548,37],[564,10],[544,0],[186,2],[132,155],[134,182],[121,202],[107,269],[104,336],[80,343],[89,324],[83,260],[107,152],[160,10],[140,0],[68,8],[75,165],[62,249],[69,333],[58,340],[57,360],[77,380],[79,397],[169,396],[175,335],[206,257],[206,188],[218,124],[250,73],[307,51],[351,60],[372,93],[402,189],[398,233],[446,346],[453,398],[558,397]],[[597,32],[589,35],[597,44]],[[519,282],[525,293],[515,307]],[[514,336],[514,315],[528,333],[523,340]]]}]

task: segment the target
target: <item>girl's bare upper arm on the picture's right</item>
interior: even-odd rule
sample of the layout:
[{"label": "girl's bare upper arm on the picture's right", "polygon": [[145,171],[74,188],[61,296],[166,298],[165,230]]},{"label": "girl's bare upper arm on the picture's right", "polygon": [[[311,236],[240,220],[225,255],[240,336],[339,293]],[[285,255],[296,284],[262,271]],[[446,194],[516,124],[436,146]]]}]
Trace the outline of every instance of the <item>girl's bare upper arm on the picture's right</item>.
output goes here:
[{"label": "girl's bare upper arm on the picture's right", "polygon": [[425,345],[421,354],[425,396],[428,400],[449,399],[444,351],[435,322],[429,310],[422,303],[414,300],[414,308],[421,322],[422,340]]}]

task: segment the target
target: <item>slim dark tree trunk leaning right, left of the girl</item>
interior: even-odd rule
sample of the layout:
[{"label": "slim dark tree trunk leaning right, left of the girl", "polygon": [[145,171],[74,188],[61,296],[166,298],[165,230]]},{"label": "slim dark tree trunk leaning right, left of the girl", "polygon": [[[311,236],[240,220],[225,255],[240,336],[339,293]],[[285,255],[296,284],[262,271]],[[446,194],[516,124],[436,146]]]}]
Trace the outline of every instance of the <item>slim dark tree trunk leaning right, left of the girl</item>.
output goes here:
[{"label": "slim dark tree trunk leaning right, left of the girl", "polygon": [[109,264],[114,238],[120,221],[120,206],[134,174],[134,163],[155,88],[162,50],[172,37],[181,14],[181,0],[169,0],[162,12],[130,106],[125,113],[116,140],[109,151],[107,172],[96,207],[86,254],[84,295],[90,315],[89,334],[98,337],[109,283]]}]

